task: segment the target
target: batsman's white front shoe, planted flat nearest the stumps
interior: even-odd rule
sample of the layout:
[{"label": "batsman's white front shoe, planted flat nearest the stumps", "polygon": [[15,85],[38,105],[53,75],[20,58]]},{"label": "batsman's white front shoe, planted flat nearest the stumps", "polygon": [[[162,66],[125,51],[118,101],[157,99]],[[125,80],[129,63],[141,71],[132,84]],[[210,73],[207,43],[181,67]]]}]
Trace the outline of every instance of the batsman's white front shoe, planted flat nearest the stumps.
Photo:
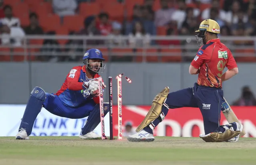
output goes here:
[{"label": "batsman's white front shoe, planted flat nearest the stumps", "polygon": [[135,141],[135,142],[138,142],[138,141],[148,141],[148,142],[150,142],[150,141],[154,141],[155,138],[154,138],[153,134],[149,134],[148,132],[146,132],[144,130],[141,130],[140,132],[137,132],[134,135],[128,136],[127,140],[128,141]]}]

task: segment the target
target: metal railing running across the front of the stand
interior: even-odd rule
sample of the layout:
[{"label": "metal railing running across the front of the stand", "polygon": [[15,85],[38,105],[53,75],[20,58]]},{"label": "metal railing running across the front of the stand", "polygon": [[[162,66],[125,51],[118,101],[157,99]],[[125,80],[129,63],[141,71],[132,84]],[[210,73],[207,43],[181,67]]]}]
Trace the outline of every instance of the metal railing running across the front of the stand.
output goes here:
[{"label": "metal railing running across the front of the stand", "polygon": [[[129,36],[26,35],[11,41],[16,39],[22,39],[21,46],[0,45],[0,61],[80,61],[86,50],[97,48],[108,62],[183,62],[191,61],[199,49],[194,36],[142,37],[133,45]],[[256,62],[256,37],[220,39],[238,62]]]}]

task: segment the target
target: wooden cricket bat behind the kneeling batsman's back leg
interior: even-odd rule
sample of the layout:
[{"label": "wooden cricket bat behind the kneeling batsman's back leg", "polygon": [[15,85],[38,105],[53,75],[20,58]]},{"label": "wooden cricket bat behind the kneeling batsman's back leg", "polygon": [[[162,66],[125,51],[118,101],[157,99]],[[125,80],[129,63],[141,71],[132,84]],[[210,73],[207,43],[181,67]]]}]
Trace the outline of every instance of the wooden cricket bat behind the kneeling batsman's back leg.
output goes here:
[{"label": "wooden cricket bat behind the kneeling batsman's back leg", "polygon": [[[236,114],[234,113],[234,111],[232,110],[232,108],[230,107],[230,105],[228,104],[228,102],[226,101],[226,99],[224,98],[225,102],[222,103],[222,107],[225,108],[225,110],[223,110],[223,114],[225,116],[225,118],[227,119],[228,123],[232,123],[232,122],[238,122],[241,123],[238,118],[236,117]],[[246,134],[246,132],[244,130],[242,130],[242,132],[240,133],[239,137],[244,136]]]}]

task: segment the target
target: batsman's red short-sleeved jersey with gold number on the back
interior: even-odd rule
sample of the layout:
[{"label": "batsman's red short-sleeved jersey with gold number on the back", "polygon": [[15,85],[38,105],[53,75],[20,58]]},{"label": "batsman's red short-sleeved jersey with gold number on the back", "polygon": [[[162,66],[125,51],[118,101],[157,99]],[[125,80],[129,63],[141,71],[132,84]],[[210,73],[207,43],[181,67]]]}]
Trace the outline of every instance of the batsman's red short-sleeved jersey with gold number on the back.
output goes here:
[{"label": "batsman's red short-sleeved jersey with gold number on the back", "polygon": [[211,39],[200,47],[191,65],[199,69],[198,84],[222,88],[222,73],[225,67],[229,70],[237,67],[231,51],[220,42],[220,39]]}]

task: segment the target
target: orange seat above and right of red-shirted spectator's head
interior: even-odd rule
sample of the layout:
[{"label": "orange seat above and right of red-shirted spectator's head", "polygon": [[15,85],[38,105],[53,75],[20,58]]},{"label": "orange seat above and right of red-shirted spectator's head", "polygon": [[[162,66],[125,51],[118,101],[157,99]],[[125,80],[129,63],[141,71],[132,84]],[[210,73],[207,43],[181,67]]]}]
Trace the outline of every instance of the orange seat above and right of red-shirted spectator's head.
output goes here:
[{"label": "orange seat above and right of red-shirted spectator's head", "polygon": [[103,6],[103,11],[109,14],[111,20],[123,21],[124,5],[120,3],[107,3]]}]

